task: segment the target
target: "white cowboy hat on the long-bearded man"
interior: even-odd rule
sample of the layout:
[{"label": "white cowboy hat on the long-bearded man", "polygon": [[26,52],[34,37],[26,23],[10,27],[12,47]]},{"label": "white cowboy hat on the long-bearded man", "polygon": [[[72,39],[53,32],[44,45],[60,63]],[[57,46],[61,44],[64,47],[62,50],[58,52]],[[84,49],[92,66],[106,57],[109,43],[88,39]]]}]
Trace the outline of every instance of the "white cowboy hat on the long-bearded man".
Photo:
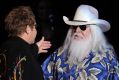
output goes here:
[{"label": "white cowboy hat on the long-bearded man", "polygon": [[106,20],[98,18],[98,11],[96,8],[90,5],[80,5],[75,13],[73,21],[70,21],[66,16],[63,16],[63,20],[67,25],[98,25],[103,32],[110,29],[110,23]]}]

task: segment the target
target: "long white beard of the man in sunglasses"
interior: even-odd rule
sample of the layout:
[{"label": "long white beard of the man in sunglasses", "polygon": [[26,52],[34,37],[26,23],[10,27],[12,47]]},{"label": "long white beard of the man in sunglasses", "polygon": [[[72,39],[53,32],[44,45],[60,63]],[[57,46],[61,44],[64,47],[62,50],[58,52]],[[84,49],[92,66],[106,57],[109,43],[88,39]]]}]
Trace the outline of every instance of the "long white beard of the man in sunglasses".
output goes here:
[{"label": "long white beard of the man in sunglasses", "polygon": [[87,57],[92,48],[92,39],[91,37],[88,40],[77,41],[72,39],[72,42],[69,46],[68,61],[70,63],[78,64],[85,57]]}]

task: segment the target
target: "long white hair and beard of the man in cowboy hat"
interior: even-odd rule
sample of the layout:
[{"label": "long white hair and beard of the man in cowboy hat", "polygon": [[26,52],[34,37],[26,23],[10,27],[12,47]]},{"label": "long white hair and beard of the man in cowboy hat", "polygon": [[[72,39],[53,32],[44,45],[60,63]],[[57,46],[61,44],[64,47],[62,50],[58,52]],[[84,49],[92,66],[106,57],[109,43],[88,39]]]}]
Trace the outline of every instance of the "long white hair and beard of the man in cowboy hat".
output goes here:
[{"label": "long white hair and beard of the man in cowboy hat", "polygon": [[89,27],[91,28],[91,37],[89,37],[87,42],[81,43],[72,43],[72,36],[74,32],[72,28],[68,30],[63,44],[63,51],[68,50],[67,56],[71,62],[81,61],[92,50],[100,50],[103,53],[104,49],[110,46],[107,43],[102,30],[97,25],[89,25]]}]

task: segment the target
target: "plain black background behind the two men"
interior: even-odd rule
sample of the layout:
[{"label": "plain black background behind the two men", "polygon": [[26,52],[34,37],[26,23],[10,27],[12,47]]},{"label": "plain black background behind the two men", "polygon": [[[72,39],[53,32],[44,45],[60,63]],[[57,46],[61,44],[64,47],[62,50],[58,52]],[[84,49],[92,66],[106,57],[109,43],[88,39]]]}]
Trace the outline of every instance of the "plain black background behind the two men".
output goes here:
[{"label": "plain black background behind the two men", "polygon": [[[46,0],[43,0],[46,1]],[[114,46],[117,56],[119,56],[119,31],[118,31],[118,2],[115,0],[47,0],[46,3],[50,4],[45,7],[45,14],[48,15],[47,20],[44,22],[40,18],[39,11],[43,8],[39,8],[38,4],[41,0],[0,0],[0,42],[4,42],[7,39],[7,33],[4,30],[4,18],[8,12],[19,5],[28,5],[33,9],[36,15],[38,26],[38,35],[36,41],[41,39],[41,36],[46,36],[46,39],[52,41],[52,49],[48,54],[52,53],[58,48],[67,33],[68,26],[64,24],[62,16],[65,15],[70,19],[73,18],[76,8],[80,4],[89,4],[96,7],[99,11],[99,17],[110,22],[111,30],[105,32],[108,41]],[[49,12],[47,12],[49,10]],[[45,23],[46,22],[46,23]],[[47,25],[44,25],[44,24]],[[43,27],[45,26],[45,28]],[[47,27],[48,26],[48,27]],[[48,33],[42,33],[47,31]],[[1,44],[0,43],[0,44]],[[44,55],[48,55],[44,54]]]}]

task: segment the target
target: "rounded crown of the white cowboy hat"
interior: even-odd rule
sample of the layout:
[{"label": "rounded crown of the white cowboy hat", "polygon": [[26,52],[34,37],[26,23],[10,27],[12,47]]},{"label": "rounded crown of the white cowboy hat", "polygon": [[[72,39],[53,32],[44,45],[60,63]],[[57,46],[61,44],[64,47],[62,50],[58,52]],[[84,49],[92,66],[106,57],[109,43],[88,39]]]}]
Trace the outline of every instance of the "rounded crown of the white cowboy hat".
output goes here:
[{"label": "rounded crown of the white cowboy hat", "polygon": [[98,11],[90,5],[80,5],[75,13],[74,20],[90,21],[98,18]]}]

